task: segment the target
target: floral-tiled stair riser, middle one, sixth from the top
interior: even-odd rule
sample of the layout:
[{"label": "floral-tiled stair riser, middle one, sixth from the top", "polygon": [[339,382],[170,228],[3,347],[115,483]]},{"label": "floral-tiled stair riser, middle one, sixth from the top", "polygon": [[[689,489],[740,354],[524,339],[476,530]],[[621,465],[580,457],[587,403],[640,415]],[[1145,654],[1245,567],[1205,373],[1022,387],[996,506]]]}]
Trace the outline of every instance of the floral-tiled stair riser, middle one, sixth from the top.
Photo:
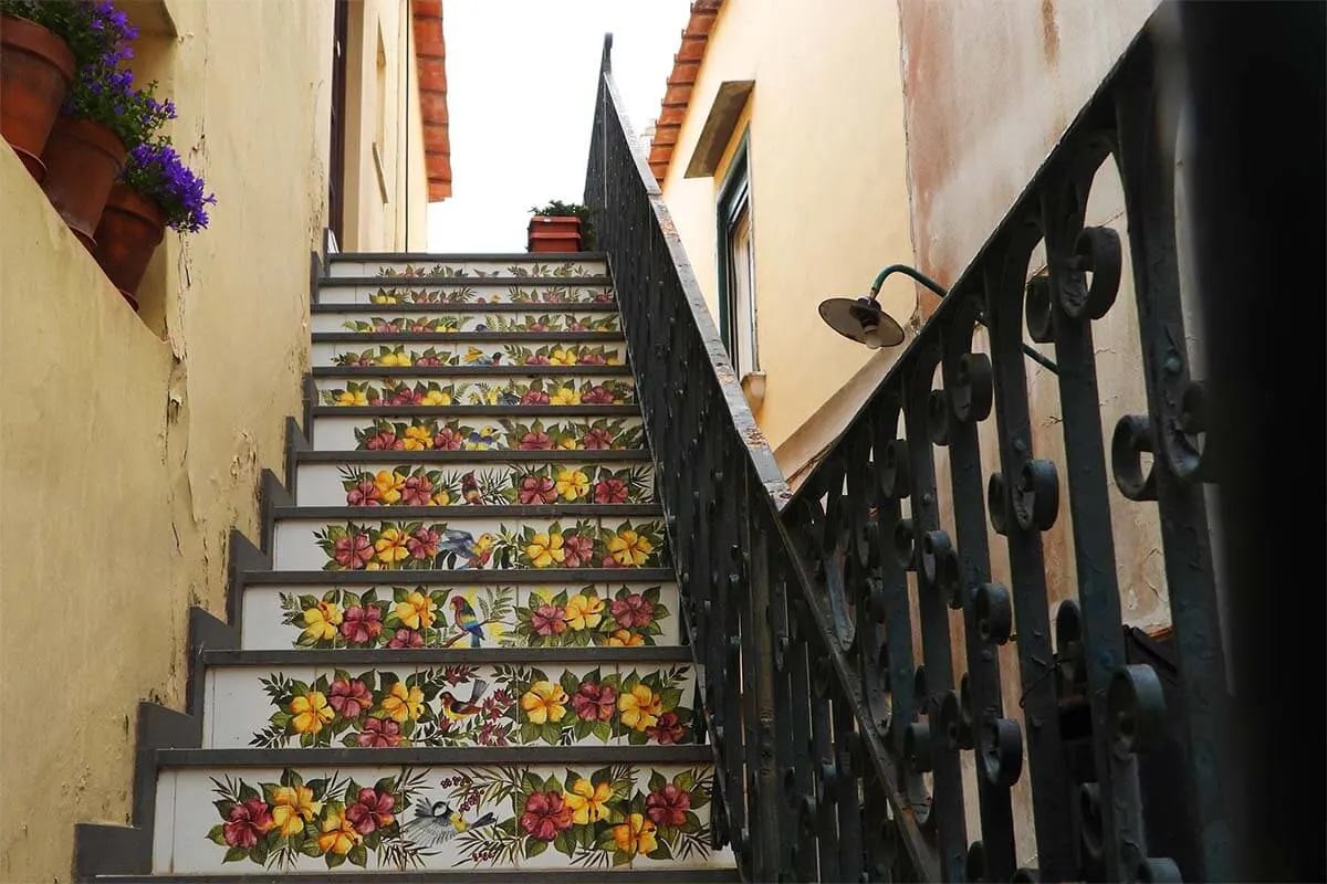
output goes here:
[{"label": "floral-tiled stair riser, middle one, sixth from the top", "polygon": [[640,417],[437,419],[318,416],[320,451],[626,451],[644,449]]}]

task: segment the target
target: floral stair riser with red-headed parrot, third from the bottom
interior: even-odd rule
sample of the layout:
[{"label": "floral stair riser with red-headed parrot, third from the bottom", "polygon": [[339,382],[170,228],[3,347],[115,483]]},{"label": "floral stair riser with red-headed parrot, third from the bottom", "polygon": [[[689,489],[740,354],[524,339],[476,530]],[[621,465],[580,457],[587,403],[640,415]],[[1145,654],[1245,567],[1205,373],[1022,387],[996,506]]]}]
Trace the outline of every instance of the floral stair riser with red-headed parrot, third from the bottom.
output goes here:
[{"label": "floral stair riser with red-headed parrot, third from the bottom", "polygon": [[[245,649],[281,649],[292,655],[322,649],[369,653],[397,644],[402,647],[401,653],[422,655],[411,657],[421,661],[446,647],[467,647],[468,652],[468,639],[464,645],[455,644],[460,628],[455,626],[453,598],[464,599],[479,615],[484,652],[523,653],[533,660],[559,653],[561,648],[587,652],[625,645],[641,653],[656,653],[650,648],[673,648],[681,641],[678,590],[666,571],[442,574],[451,582],[438,579],[438,571],[409,575],[394,571],[244,574],[239,599],[240,644]],[[411,579],[402,579],[406,577]],[[492,582],[482,582],[488,579]],[[433,603],[434,622],[415,630],[403,623],[397,626],[393,620],[397,604],[411,602],[414,592]],[[575,611],[568,623],[567,603],[577,595],[604,599],[597,624],[592,623],[593,616],[591,622],[577,622]],[[415,602],[427,610],[423,598]],[[573,608],[585,607],[583,602],[573,604]],[[594,606],[588,607],[593,610]],[[393,627],[384,626],[387,622],[393,622]]]}]

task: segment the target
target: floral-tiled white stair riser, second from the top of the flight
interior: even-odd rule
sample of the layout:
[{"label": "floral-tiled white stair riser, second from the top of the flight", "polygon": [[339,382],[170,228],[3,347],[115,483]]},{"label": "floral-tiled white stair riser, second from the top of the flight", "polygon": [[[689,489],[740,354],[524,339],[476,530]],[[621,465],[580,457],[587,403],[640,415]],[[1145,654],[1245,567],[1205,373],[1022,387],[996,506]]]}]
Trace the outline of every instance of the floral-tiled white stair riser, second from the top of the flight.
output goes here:
[{"label": "floral-tiled white stair riser, second from the top of the flight", "polygon": [[411,286],[407,280],[377,285],[340,285],[318,289],[318,304],[376,304],[423,306],[462,304],[613,304],[610,286],[559,284],[556,280],[514,281],[514,285],[456,284]]}]

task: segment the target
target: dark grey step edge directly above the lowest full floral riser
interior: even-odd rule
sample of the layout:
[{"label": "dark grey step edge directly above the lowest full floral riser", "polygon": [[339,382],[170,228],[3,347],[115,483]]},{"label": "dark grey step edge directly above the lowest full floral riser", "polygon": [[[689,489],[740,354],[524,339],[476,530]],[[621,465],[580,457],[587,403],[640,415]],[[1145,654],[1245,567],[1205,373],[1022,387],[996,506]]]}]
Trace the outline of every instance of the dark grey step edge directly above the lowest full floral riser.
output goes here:
[{"label": "dark grey step edge directly above the lowest full floral riser", "polygon": [[671,746],[398,746],[368,749],[325,746],[317,749],[155,749],[155,769],[163,767],[401,767],[516,763],[714,763],[710,744]]}]

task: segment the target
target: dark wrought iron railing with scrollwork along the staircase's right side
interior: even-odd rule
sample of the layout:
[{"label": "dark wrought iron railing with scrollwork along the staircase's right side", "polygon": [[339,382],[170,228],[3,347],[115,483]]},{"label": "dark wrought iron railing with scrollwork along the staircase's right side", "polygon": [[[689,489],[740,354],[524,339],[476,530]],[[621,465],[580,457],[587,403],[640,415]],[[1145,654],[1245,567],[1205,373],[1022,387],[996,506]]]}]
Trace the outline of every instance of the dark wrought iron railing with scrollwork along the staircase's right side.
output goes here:
[{"label": "dark wrought iron railing with scrollwork along the staircase's right side", "polygon": [[[1237,802],[1212,472],[1180,302],[1173,114],[1161,113],[1152,36],[1128,49],[795,496],[625,119],[610,46],[585,201],[616,277],[686,635],[703,664],[715,838],[743,877],[1229,880]],[[1092,322],[1112,309],[1123,260],[1119,236],[1084,216],[1108,162],[1124,190],[1147,414],[1099,404]],[[1028,282],[1039,241],[1047,270]],[[1063,464],[1032,447],[1024,318],[1034,341],[1054,343]],[[974,350],[979,325],[989,354]],[[994,467],[978,443],[991,416]],[[1103,419],[1115,421],[1109,459]],[[949,488],[937,484],[938,448]],[[1121,628],[1112,480],[1158,512],[1170,652]],[[1042,535],[1062,493],[1078,596],[1052,624]],[[993,582],[987,522],[1007,546],[1009,588]],[[1019,696],[1001,689],[1009,641]],[[1148,762],[1158,751],[1172,751],[1164,770]],[[977,770],[974,812],[962,753]],[[1019,868],[1015,851],[1020,779],[1035,868]]]}]

